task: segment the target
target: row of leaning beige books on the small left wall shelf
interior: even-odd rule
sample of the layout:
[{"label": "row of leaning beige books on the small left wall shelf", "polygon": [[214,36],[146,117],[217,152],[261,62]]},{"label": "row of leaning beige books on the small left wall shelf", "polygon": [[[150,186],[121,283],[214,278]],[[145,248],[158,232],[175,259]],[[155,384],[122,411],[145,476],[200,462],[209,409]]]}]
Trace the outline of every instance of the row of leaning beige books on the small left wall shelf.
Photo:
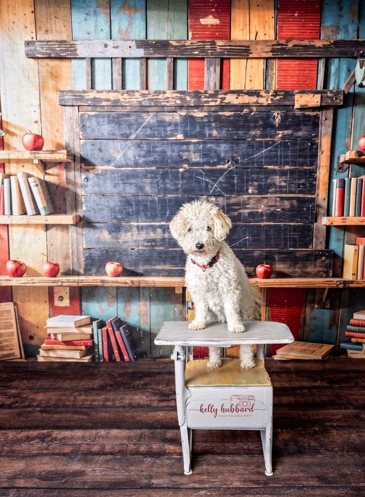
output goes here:
[{"label": "row of leaning beige books on the small left wall shelf", "polygon": [[53,205],[46,182],[27,173],[0,173],[0,216],[46,216]]}]

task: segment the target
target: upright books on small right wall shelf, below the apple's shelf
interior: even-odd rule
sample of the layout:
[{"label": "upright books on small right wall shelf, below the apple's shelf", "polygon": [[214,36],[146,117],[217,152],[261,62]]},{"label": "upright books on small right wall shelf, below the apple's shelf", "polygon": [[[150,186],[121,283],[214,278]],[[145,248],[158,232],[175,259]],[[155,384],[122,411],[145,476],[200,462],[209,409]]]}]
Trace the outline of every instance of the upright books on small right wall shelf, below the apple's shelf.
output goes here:
[{"label": "upright books on small right wall shelf, below the apple's shelf", "polygon": [[333,180],[332,216],[365,216],[364,177]]}]

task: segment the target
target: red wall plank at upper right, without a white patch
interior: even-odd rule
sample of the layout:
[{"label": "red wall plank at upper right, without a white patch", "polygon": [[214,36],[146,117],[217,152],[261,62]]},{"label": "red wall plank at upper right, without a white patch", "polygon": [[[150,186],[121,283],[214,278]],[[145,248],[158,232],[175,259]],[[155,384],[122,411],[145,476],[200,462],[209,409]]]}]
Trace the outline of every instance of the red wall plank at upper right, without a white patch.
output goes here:
[{"label": "red wall plank at upper right, without a white patch", "polygon": [[[278,40],[319,39],[321,1],[279,0]],[[316,89],[317,60],[278,60],[277,89]]]}]

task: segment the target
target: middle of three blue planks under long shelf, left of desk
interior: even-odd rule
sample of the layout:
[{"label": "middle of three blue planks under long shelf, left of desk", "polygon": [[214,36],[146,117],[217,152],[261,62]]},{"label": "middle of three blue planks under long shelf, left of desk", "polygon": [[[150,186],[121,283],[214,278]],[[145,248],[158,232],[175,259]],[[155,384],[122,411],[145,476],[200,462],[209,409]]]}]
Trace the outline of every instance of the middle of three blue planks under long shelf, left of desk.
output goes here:
[{"label": "middle of three blue planks under long shelf, left of desk", "polygon": [[117,315],[135,329],[131,341],[133,351],[146,352],[151,355],[150,348],[150,289],[149,288],[117,288]]}]

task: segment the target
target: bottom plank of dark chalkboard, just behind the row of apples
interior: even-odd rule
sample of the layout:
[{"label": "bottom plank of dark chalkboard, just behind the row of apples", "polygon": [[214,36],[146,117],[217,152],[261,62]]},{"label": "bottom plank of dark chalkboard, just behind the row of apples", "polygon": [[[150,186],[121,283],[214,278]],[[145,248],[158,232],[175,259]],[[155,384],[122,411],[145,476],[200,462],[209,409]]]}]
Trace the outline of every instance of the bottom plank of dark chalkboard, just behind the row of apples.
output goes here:
[{"label": "bottom plank of dark chalkboard, just behind the row of apples", "polygon": [[[273,277],[328,277],[332,274],[330,250],[234,249],[234,252],[250,276],[264,260],[273,265]],[[124,265],[126,276],[182,276],[185,270],[185,255],[178,249],[89,249],[84,251],[85,274],[103,274],[105,263],[115,260]]]}]

